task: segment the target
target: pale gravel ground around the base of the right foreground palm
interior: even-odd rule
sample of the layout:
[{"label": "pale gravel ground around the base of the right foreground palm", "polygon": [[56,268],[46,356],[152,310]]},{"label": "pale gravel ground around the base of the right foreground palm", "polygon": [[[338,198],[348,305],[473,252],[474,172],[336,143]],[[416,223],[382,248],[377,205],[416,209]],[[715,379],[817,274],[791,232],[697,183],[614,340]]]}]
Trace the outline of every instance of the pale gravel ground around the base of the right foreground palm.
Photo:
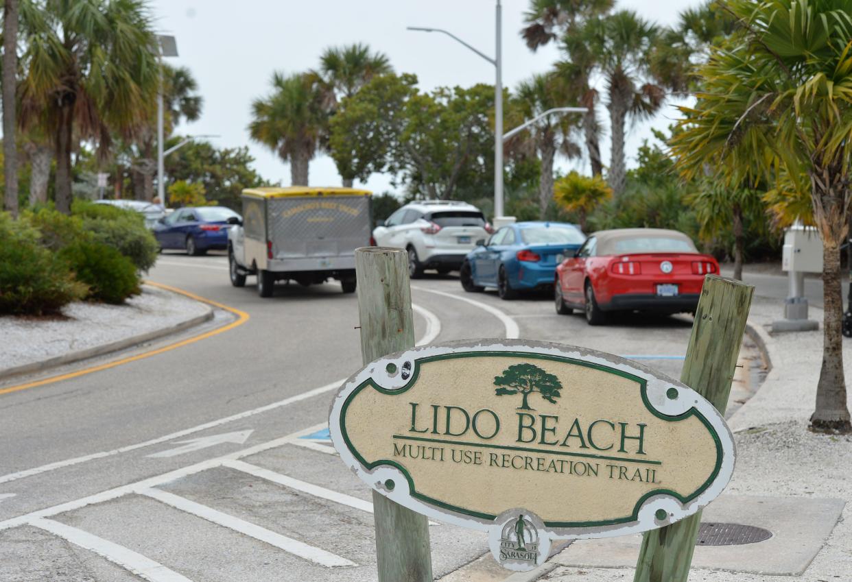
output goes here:
[{"label": "pale gravel ground around the base of the right foreground palm", "polygon": [[[780,317],[776,302],[757,299],[750,322],[769,328]],[[821,322],[822,311],[810,317]],[[843,499],[832,535],[803,582],[852,582],[852,437],[816,435],[807,430],[820,374],[822,332],[765,334],[773,369],[757,391],[728,421],[737,443],[734,478],[728,494]],[[852,341],[844,339],[843,362],[852,385]],[[819,516],[815,516],[819,518]],[[568,548],[567,551],[571,551]],[[632,568],[557,567],[540,580],[610,582],[632,580]],[[753,573],[693,570],[690,582],[778,582],[780,577]]]}]

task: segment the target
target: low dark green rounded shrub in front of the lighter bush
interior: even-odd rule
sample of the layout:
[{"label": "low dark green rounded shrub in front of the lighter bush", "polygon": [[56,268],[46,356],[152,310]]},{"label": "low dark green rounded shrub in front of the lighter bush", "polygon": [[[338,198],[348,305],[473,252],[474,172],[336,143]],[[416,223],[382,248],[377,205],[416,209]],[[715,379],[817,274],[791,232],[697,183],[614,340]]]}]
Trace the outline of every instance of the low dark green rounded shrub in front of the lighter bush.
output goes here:
[{"label": "low dark green rounded shrub in front of the lighter bush", "polygon": [[89,299],[118,304],[140,293],[133,262],[107,244],[78,241],[60,250],[59,256],[79,281],[89,285]]}]

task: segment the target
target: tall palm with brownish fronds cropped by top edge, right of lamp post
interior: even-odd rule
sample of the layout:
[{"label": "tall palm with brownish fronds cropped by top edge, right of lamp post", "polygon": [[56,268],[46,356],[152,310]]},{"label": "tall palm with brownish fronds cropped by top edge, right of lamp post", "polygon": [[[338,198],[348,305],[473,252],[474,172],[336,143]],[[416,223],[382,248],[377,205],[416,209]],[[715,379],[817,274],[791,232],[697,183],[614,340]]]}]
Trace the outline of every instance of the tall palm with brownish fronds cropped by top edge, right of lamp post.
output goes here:
[{"label": "tall palm with brownish fronds cropped by top edge, right of lamp post", "polygon": [[[532,50],[559,37],[570,38],[585,20],[607,14],[614,0],[531,0],[530,9],[524,13],[527,23],[521,36]],[[583,116],[585,147],[593,175],[603,173],[600,128],[597,123],[597,91],[590,78],[596,66],[596,55],[587,47],[572,43],[571,49],[563,47],[567,59],[557,63],[556,71],[567,88],[567,94],[576,96],[580,106],[588,111]]]}]

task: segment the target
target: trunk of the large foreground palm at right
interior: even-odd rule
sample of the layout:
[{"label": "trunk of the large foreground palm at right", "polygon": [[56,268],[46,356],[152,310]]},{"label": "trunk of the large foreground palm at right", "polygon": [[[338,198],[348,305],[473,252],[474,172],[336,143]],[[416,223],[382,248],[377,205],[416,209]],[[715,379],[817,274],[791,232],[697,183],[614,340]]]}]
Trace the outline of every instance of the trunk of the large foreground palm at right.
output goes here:
[{"label": "trunk of the large foreground palm at right", "polygon": [[822,322],[822,368],[816,385],[816,409],[810,417],[814,431],[852,431],[843,376],[843,294],[840,288],[840,250],[823,240],[822,288],[825,315]]}]

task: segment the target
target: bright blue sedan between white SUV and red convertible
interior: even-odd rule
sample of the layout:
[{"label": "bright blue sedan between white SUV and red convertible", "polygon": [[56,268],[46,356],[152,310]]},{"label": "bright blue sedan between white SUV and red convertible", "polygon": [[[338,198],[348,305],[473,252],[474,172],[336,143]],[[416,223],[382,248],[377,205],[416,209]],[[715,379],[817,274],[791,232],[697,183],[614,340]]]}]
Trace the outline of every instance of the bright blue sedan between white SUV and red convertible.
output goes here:
[{"label": "bright blue sedan between white SUV and red convertible", "polygon": [[559,265],[573,256],[586,237],[575,225],[562,222],[518,222],[477,241],[460,270],[465,291],[496,287],[501,299],[515,299],[522,290],[550,289]]}]

